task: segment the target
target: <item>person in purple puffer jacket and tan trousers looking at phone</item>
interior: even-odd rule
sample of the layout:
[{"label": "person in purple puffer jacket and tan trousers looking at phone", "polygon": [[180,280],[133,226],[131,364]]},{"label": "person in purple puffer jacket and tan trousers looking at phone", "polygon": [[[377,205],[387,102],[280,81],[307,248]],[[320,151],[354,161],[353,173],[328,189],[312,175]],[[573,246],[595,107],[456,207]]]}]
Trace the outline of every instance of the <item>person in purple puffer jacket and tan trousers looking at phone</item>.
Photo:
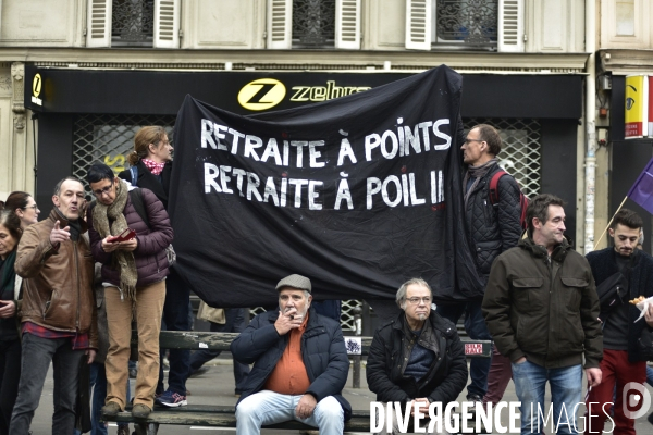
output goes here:
[{"label": "person in purple puffer jacket and tan trousers looking at phone", "polygon": [[[88,210],[88,235],[93,257],[102,263],[109,325],[104,362],[107,405],[102,413],[113,417],[125,409],[134,311],[138,326],[138,375],[132,414],[143,419],[152,410],[159,378],[159,332],[169,268],[165,248],[172,241],[173,231],[163,204],[150,190],[135,192],[145,209],[145,220],[132,201],[127,183],[114,176],[111,167],[94,164],[86,178],[97,198],[95,207]],[[135,232],[133,238],[116,240],[116,236],[128,229]]]}]

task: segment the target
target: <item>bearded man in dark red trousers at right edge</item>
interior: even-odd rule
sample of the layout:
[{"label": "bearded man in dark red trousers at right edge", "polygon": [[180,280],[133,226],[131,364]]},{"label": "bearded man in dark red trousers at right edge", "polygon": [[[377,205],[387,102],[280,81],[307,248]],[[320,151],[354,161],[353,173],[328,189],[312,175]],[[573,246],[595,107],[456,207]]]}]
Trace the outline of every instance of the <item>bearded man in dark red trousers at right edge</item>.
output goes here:
[{"label": "bearded man in dark red trousers at right edge", "polygon": [[[631,399],[631,395],[640,391],[624,387],[631,382],[643,384],[646,380],[646,359],[640,355],[637,340],[646,327],[646,323],[653,327],[651,315],[653,312],[646,312],[645,323],[644,320],[636,322],[640,311],[636,306],[628,303],[628,300],[639,296],[653,296],[653,258],[637,249],[642,226],[642,219],[636,212],[620,210],[615,214],[609,228],[614,247],[590,252],[587,256],[596,286],[601,286],[607,279],[612,283],[615,277],[617,278],[615,285],[625,287],[626,291],[623,299],[614,303],[614,308],[601,319],[604,322],[603,360],[601,361],[603,381],[588,395],[587,401],[592,403],[592,408],[588,415],[586,434],[603,432],[606,419],[604,410],[607,411],[608,407],[605,405],[608,402],[614,402],[615,433],[631,435],[636,433],[634,420],[628,418],[624,411],[628,403],[637,403]],[[616,400],[614,400],[615,386]],[[628,397],[623,396],[625,390]],[[637,411],[642,402],[640,400],[638,406],[629,408],[629,411]]]}]

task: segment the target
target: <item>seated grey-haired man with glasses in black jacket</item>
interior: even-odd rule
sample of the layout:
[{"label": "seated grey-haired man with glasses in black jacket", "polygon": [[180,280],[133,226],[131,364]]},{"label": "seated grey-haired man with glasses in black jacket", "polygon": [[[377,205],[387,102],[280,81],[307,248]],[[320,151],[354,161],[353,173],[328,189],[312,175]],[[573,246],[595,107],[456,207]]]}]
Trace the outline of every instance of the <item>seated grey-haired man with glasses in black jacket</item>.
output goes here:
[{"label": "seated grey-haired man with glasses in black jacket", "polygon": [[[426,415],[429,405],[442,409],[455,400],[467,383],[467,360],[456,326],[431,311],[431,287],[421,278],[404,283],[396,295],[402,313],[381,326],[370,347],[367,381],[377,400],[419,405]],[[398,433],[397,422],[386,427]]]}]

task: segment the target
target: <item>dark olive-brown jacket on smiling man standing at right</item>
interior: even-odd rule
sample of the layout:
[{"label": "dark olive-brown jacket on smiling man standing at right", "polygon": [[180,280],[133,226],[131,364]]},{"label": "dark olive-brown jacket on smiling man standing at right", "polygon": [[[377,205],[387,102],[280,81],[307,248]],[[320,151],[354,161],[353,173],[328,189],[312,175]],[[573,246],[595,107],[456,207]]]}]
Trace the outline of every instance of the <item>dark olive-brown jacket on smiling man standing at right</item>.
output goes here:
[{"label": "dark olive-brown jacket on smiling man standing at right", "polygon": [[482,304],[501,355],[526,357],[556,369],[582,363],[597,368],[603,358],[599,297],[590,264],[558,245],[551,258],[532,239],[498,256]]}]

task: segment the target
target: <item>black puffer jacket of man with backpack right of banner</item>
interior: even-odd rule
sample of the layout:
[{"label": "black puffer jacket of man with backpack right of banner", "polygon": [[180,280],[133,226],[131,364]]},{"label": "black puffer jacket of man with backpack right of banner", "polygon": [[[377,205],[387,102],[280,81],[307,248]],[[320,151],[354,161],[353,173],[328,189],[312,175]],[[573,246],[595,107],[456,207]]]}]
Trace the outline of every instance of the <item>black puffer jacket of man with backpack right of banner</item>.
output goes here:
[{"label": "black puffer jacket of man with backpack right of banner", "polygon": [[[502,252],[517,246],[521,237],[519,186],[510,175],[498,179],[498,203],[490,202],[490,181],[502,171],[498,164],[488,171],[467,200],[465,220],[476,251],[479,276],[488,282],[492,262]],[[482,296],[480,294],[479,296]]]}]

